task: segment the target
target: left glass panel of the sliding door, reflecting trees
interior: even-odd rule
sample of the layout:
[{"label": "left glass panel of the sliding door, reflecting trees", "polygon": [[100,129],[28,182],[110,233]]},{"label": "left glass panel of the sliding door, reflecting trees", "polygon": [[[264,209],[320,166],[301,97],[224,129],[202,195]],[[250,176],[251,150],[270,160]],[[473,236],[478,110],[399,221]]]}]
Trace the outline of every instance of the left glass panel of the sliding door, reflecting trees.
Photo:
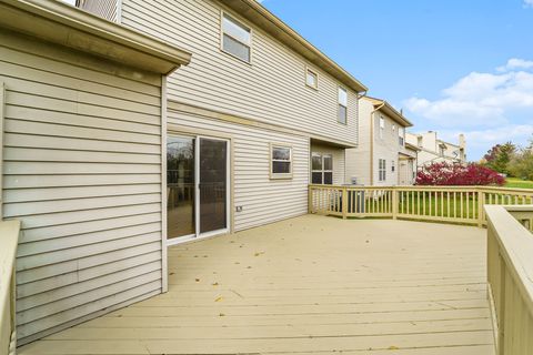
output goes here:
[{"label": "left glass panel of the sliding door, reflecting trees", "polygon": [[195,140],[171,136],[167,141],[167,236],[194,235],[195,229]]}]

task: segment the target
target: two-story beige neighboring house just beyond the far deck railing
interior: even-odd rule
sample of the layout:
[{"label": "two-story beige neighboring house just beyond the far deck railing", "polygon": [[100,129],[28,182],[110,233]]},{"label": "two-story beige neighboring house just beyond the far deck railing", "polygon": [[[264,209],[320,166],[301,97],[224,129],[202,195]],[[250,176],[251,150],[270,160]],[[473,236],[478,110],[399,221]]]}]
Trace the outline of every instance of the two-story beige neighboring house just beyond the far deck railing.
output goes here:
[{"label": "two-story beige neighboring house just beyond the far deck railing", "polygon": [[[384,100],[363,97],[360,100],[358,148],[346,150],[346,180],[362,185],[412,184],[406,179],[415,160],[405,146],[405,128],[412,123]],[[411,161],[408,164],[400,162]],[[402,169],[401,174],[400,168]]]}]

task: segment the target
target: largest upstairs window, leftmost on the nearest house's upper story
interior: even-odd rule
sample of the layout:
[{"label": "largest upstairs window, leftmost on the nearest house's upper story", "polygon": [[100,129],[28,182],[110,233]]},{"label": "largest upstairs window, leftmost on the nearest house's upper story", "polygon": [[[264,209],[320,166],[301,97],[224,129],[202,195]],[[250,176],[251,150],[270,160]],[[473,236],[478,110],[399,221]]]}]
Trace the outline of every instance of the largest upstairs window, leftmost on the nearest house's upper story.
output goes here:
[{"label": "largest upstairs window, leftmost on the nearest house's upper story", "polygon": [[222,13],[222,50],[250,63],[251,44],[252,31],[228,13]]}]

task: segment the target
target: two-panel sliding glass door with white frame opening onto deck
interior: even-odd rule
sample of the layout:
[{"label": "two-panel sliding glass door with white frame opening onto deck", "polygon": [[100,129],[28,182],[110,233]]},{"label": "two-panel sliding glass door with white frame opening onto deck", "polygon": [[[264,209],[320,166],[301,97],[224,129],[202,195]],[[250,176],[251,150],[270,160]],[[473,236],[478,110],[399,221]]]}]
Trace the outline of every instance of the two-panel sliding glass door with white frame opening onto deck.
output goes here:
[{"label": "two-panel sliding glass door with white frame opening onto deck", "polygon": [[227,140],[169,135],[168,240],[189,240],[228,231],[229,179]]}]

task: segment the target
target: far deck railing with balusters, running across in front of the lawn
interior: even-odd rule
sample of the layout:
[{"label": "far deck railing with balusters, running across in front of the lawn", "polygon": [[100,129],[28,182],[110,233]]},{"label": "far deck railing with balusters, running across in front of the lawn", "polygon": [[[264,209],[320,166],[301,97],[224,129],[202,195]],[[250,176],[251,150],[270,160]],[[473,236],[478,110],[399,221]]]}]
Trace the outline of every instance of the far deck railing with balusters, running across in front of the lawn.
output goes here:
[{"label": "far deck railing with balusters, running across in front of the lawn", "polygon": [[[533,204],[533,190],[484,186],[310,185],[309,212],[486,224],[484,205]],[[531,224],[530,224],[531,225]]]}]

